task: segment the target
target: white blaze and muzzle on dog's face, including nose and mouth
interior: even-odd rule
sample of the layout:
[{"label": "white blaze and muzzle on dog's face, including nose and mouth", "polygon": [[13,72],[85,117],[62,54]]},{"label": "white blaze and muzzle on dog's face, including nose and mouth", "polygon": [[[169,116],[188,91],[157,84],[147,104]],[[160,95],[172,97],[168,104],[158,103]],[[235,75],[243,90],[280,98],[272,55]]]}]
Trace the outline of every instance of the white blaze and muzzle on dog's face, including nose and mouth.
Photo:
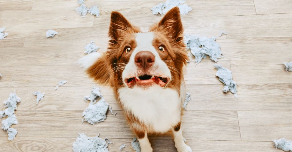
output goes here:
[{"label": "white blaze and muzzle on dog's face, including nose and mouth", "polygon": [[[122,79],[129,88],[134,86],[148,88],[152,85],[165,87],[171,80],[171,72],[157,51],[165,52],[164,45],[153,46],[154,32],[135,33],[136,47],[126,47],[131,57],[124,68]],[[159,50],[160,49],[160,50]]]}]

